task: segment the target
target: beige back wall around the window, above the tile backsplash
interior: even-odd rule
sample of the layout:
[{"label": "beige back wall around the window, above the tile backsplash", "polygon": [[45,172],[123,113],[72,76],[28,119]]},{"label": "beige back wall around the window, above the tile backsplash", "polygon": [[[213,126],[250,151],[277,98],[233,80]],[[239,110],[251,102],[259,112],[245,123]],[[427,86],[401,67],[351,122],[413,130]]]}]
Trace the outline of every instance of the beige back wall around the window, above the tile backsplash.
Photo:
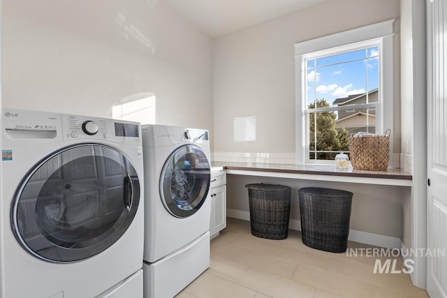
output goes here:
[{"label": "beige back wall around the window, above the tile backsplash", "polygon": [[[214,42],[215,150],[294,152],[293,45],[399,15],[399,0],[331,0],[217,38]],[[398,45],[399,38],[395,40]],[[257,117],[256,142],[233,142],[233,118],[243,116]],[[398,150],[398,131],[395,137],[399,140],[395,146]]]}]

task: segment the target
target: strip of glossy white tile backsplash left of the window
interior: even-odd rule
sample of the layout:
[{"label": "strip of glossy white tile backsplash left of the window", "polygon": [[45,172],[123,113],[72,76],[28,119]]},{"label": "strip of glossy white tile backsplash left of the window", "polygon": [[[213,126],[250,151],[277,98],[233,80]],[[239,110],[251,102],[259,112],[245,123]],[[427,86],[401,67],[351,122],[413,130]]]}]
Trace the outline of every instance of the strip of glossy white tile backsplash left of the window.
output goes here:
[{"label": "strip of glossy white tile backsplash left of the window", "polygon": [[212,152],[211,161],[227,163],[277,163],[295,164],[296,155],[293,153],[265,153],[265,152]]}]

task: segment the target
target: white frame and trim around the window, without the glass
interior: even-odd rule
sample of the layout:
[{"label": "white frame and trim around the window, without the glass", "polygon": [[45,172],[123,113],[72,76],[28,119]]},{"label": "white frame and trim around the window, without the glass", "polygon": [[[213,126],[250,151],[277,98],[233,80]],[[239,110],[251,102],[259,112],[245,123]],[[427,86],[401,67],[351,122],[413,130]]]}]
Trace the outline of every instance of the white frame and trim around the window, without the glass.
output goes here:
[{"label": "white frame and trim around the window, without the glass", "polygon": [[[393,22],[388,20],[330,36],[295,43],[295,126],[296,163],[333,164],[334,161],[312,161],[309,158],[309,114],[307,113],[307,82],[305,60],[341,51],[356,50],[359,47],[377,45],[379,54],[379,100],[376,109],[376,133],[390,128],[393,140]],[[383,67],[386,66],[386,67]],[[390,142],[390,163],[393,165],[393,142]]]}]

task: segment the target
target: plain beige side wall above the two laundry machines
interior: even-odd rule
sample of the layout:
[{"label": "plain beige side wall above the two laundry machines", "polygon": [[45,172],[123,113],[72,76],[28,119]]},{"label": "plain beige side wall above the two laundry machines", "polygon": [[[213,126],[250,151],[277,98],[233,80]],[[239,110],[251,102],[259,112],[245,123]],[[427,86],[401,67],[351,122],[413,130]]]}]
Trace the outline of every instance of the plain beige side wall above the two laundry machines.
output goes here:
[{"label": "plain beige side wall above the two laundry machines", "polygon": [[164,1],[3,0],[2,41],[4,107],[110,117],[154,94],[159,124],[212,130],[212,39]]}]

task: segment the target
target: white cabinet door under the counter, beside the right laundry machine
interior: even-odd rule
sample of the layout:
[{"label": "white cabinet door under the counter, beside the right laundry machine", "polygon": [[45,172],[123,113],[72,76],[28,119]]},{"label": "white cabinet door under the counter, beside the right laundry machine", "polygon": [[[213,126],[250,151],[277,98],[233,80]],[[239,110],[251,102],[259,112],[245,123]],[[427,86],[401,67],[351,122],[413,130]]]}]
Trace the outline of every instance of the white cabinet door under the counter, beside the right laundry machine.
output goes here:
[{"label": "white cabinet door under the counter, beside the right laundry machine", "polygon": [[226,186],[211,189],[210,234],[213,236],[226,227]]}]

